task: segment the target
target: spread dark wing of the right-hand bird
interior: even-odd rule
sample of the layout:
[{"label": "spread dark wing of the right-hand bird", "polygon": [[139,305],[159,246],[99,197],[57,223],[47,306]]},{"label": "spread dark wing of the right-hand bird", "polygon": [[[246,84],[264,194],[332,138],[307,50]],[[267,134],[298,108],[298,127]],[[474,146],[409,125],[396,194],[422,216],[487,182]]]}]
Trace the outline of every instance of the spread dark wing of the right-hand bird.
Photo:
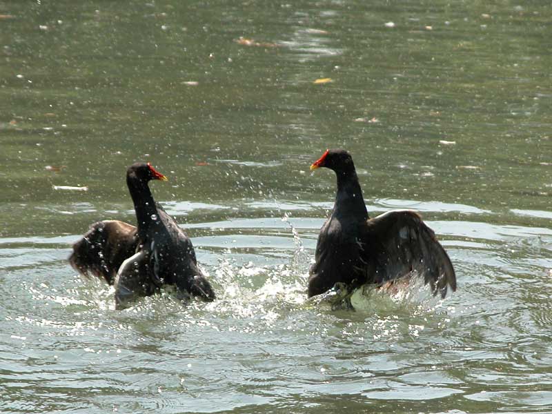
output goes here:
[{"label": "spread dark wing of the right-hand bird", "polygon": [[410,273],[424,277],[433,295],[456,290],[451,259],[420,215],[411,210],[393,210],[366,221],[363,232],[364,260],[368,282],[382,284]]}]

